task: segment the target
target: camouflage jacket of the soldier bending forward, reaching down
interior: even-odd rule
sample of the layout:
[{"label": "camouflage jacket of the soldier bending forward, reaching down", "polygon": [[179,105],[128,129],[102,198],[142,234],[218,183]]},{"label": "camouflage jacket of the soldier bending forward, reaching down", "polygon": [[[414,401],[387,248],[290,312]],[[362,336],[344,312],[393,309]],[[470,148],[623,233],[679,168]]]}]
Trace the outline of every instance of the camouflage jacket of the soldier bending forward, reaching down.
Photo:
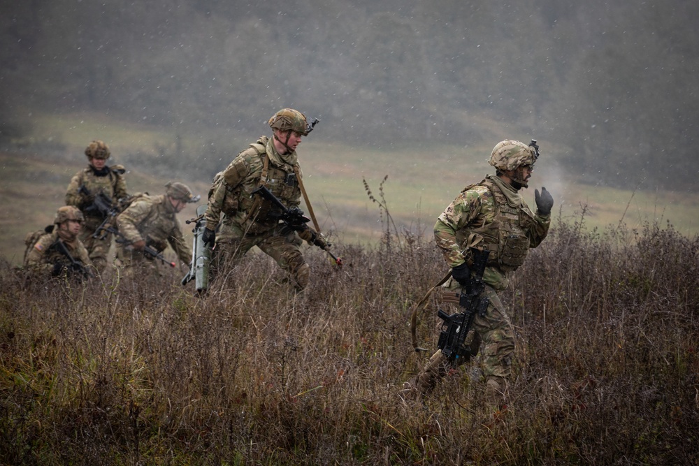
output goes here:
[{"label": "camouflage jacket of the soldier bending forward, reaching down", "polygon": [[192,249],[185,242],[176,213],[167,196],[143,196],[117,216],[117,225],[127,242],[144,240],[158,252],[169,243],[180,261],[189,263]]}]

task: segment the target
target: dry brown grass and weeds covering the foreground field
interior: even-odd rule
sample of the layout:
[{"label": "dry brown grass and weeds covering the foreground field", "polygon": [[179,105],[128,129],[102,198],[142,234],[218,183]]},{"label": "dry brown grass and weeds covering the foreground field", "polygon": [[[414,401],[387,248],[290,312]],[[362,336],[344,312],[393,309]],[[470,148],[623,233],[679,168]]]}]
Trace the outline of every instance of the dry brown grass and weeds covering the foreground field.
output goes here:
[{"label": "dry brown grass and weeds covering the foreground field", "polygon": [[342,270],[308,250],[298,296],[261,255],[205,298],[175,276],[4,266],[0,463],[696,464],[699,239],[578,226],[556,224],[505,293],[519,341],[497,416],[467,370],[424,404],[398,395],[424,363],[410,305],[445,268],[392,226],[336,247]]}]

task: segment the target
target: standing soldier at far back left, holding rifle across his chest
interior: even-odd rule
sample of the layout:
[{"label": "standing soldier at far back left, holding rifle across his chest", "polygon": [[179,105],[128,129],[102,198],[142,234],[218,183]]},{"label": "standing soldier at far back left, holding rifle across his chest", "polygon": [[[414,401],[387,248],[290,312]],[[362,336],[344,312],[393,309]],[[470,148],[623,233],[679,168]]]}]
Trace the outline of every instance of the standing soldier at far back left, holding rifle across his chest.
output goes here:
[{"label": "standing soldier at far back left, holding rifle across his chest", "polygon": [[[80,241],[85,244],[90,259],[99,272],[107,265],[107,254],[112,245],[112,234],[106,231],[95,234],[96,229],[108,217],[104,206],[96,201],[101,196],[108,207],[117,207],[120,199],[127,198],[127,185],[124,181],[124,167],[107,166],[109,147],[101,140],[94,140],[85,149],[87,168],[80,170],[71,179],[66,192],[66,205],[74,205],[85,215]],[[99,235],[105,235],[99,240]]]}]

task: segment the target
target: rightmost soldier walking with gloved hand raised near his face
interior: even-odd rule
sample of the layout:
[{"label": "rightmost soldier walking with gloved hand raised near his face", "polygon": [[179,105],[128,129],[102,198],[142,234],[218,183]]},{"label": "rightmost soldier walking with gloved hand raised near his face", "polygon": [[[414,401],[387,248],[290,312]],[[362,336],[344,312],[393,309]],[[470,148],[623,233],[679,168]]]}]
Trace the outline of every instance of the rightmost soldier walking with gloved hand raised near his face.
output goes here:
[{"label": "rightmost soldier walking with gloved hand raised near his face", "polygon": [[[535,190],[537,211],[532,213],[519,190],[528,187],[528,180],[538,158],[538,145],[527,146],[517,140],[503,140],[490,156],[496,176],[461,191],[442,212],[434,228],[435,241],[452,276],[443,288],[460,291],[468,284],[473,257],[470,247],[489,251],[483,274],[485,289],[481,296],[489,298],[484,315],[476,314],[473,331],[465,348],[477,354],[482,348],[482,370],[486,381],[489,405],[500,407],[505,401],[507,379],[511,374],[514,354],[514,332],[497,291],[503,291],[508,276],[524,263],[531,247],[537,247],[549,231],[554,200],[546,188]],[[456,361],[466,362],[469,358]],[[413,381],[420,393],[435,386],[447,372],[447,358],[438,350]],[[410,386],[410,383],[408,383]]]}]

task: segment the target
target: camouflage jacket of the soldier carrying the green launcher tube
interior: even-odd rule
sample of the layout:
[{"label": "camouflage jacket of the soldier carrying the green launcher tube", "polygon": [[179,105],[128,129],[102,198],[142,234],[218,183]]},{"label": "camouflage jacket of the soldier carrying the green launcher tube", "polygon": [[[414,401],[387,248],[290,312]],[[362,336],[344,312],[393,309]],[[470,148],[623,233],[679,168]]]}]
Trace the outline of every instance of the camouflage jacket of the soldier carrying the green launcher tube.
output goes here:
[{"label": "camouflage jacket of the soldier carrying the green launcher tube", "polygon": [[[296,152],[278,154],[273,140],[261,136],[257,143],[240,152],[222,174],[217,175],[206,210],[206,228],[215,230],[225,214],[240,230],[261,234],[278,225],[271,204],[252,191],[262,183],[287,207],[301,203]],[[222,180],[220,180],[222,178]]]}]

